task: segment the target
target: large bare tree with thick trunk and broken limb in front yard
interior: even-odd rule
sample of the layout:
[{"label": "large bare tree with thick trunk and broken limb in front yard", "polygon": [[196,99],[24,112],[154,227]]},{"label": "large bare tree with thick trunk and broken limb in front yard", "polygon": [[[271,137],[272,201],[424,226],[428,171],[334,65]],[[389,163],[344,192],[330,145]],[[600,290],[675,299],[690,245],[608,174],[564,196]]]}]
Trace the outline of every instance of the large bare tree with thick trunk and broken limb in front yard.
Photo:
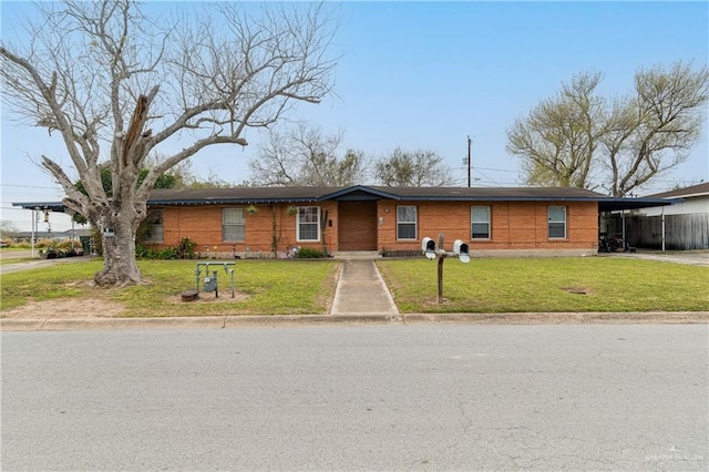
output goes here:
[{"label": "large bare tree with thick trunk and broken limb in front yard", "polygon": [[[163,21],[131,0],[38,8],[27,42],[0,43],[2,94],[25,122],[59,133],[86,194],[56,157],[41,164],[64,204],[103,235],[101,286],[143,283],[135,232],[163,173],[207,146],[245,146],[247,129],[278,122],[297,102],[318,103],[332,86],[336,24],[322,4],[201,3]],[[175,143],[182,151],[138,185],[148,153]]]}]

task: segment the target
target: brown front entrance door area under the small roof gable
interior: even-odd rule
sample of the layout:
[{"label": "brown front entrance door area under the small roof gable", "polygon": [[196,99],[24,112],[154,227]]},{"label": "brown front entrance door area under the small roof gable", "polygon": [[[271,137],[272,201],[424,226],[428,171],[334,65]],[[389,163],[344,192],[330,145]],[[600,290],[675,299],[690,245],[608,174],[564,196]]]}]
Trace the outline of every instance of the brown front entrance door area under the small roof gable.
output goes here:
[{"label": "brown front entrance door area under the small roof gable", "polygon": [[377,250],[377,202],[340,202],[338,249]]}]

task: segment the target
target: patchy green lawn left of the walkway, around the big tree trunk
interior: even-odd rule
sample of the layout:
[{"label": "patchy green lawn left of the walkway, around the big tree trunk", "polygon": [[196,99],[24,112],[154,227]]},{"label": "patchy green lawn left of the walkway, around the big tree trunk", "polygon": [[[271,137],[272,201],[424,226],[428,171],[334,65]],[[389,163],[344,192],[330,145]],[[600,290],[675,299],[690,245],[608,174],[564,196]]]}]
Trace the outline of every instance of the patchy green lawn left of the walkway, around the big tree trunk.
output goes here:
[{"label": "patchy green lawn left of the walkway, around the big tree trunk", "polygon": [[102,267],[101,260],[8,274],[2,277],[2,309],[28,300],[74,297],[121,302],[126,317],[322,314],[335,294],[339,263],[237,261],[234,299],[229,276],[224,268],[213,267],[218,273],[219,298],[203,293],[195,302],[183,302],[179,295],[195,288],[196,261],[144,260],[138,266],[152,284],[109,290],[86,284]]}]

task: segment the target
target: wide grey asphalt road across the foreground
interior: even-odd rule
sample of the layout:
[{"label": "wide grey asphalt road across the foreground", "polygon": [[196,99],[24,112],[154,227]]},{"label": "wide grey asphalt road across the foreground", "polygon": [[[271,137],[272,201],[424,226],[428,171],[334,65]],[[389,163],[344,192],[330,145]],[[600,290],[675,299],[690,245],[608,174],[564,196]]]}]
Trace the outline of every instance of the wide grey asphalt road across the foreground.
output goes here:
[{"label": "wide grey asphalt road across the foreground", "polygon": [[2,332],[12,470],[707,470],[706,325]]}]

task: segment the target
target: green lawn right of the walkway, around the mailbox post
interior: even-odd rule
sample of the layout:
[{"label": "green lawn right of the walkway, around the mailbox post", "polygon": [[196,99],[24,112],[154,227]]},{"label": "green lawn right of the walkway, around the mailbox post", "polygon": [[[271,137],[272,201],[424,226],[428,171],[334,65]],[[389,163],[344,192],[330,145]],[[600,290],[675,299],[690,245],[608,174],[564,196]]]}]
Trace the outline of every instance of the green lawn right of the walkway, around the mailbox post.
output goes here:
[{"label": "green lawn right of the walkway, around the mailbox post", "polygon": [[709,267],[610,257],[379,260],[402,312],[709,311]]}]

